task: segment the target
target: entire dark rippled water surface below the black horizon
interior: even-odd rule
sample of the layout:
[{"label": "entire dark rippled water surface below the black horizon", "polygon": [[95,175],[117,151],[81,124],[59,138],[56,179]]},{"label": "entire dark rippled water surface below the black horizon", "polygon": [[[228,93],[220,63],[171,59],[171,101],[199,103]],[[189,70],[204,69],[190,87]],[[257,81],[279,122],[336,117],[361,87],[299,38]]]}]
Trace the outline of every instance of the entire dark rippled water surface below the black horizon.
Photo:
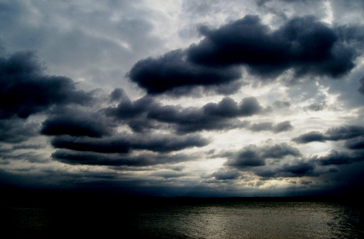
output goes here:
[{"label": "entire dark rippled water surface below the black horizon", "polygon": [[[1,207],[11,238],[364,238],[359,205],[207,202]],[[115,236],[116,235],[116,236]]]}]

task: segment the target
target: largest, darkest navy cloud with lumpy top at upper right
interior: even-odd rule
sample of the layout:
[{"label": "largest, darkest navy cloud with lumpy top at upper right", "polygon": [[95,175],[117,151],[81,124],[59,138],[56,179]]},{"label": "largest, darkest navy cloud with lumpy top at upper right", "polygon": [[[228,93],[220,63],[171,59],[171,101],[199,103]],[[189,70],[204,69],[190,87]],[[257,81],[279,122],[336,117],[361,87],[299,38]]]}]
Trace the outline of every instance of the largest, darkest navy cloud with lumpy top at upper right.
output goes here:
[{"label": "largest, darkest navy cloud with lumpy top at upper right", "polygon": [[244,64],[261,76],[294,68],[297,75],[338,77],[354,67],[355,52],[339,41],[335,30],[307,16],[272,31],[258,16],[247,15],[215,30],[201,27],[205,39],[191,45],[188,56],[204,65]]}]

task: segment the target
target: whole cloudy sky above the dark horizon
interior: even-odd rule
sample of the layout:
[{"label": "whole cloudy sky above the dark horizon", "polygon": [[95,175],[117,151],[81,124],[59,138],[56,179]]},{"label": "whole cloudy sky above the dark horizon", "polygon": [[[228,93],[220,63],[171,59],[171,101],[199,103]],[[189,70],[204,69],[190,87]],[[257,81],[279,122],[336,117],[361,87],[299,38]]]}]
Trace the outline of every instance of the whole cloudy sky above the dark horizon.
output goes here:
[{"label": "whole cloudy sky above the dark horizon", "polygon": [[364,188],[361,0],[0,0],[0,185]]}]

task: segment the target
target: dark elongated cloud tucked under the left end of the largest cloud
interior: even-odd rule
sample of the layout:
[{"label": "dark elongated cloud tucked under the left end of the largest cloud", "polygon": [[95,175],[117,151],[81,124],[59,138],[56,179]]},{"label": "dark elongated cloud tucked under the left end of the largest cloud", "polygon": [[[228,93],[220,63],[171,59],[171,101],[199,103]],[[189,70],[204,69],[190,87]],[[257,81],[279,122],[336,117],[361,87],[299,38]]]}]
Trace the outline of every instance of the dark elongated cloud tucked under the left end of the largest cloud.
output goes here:
[{"label": "dark elongated cloud tucked under the left end of the largest cloud", "polygon": [[127,74],[148,93],[158,94],[180,86],[220,85],[240,78],[233,67],[209,67],[186,60],[185,50],[174,50],[159,58],[139,60]]}]

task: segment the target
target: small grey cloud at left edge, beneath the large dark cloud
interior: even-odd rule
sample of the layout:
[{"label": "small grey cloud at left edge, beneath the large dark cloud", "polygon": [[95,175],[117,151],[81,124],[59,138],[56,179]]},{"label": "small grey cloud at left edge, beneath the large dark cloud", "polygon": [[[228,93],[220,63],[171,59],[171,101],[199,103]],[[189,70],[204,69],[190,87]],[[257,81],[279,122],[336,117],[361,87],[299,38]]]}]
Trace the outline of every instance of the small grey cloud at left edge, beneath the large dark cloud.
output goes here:
[{"label": "small grey cloud at left edge, beneath the large dark cloud", "polygon": [[26,141],[38,134],[39,127],[39,124],[27,123],[20,118],[0,119],[0,141],[8,143]]}]

